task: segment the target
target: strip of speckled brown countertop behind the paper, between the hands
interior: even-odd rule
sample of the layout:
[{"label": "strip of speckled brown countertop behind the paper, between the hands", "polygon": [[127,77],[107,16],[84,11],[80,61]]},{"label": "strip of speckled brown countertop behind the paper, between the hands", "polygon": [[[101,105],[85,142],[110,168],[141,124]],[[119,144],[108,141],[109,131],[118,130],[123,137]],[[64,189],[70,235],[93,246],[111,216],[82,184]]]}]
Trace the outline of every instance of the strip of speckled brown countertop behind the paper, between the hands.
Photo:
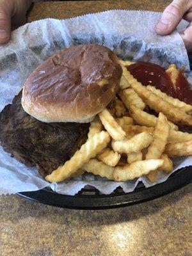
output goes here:
[{"label": "strip of speckled brown countertop behind the paper, between the hands", "polygon": [[85,13],[103,12],[106,10],[149,10],[163,12],[164,8],[171,3],[169,0],[116,0],[116,1],[64,1],[36,3],[33,6],[28,21],[55,18],[67,19]]}]

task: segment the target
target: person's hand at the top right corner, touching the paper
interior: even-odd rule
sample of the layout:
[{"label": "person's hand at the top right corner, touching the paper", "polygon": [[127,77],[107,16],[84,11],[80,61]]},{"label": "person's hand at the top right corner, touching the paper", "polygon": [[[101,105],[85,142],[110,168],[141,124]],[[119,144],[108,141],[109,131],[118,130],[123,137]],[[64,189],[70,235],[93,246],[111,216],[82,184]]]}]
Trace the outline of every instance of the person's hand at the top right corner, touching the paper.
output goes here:
[{"label": "person's hand at the top right corner, touching the paper", "polygon": [[177,27],[180,20],[187,20],[188,28],[182,35],[182,40],[188,51],[192,51],[192,0],[173,0],[166,7],[161,19],[156,25],[156,33],[159,35],[168,35]]}]

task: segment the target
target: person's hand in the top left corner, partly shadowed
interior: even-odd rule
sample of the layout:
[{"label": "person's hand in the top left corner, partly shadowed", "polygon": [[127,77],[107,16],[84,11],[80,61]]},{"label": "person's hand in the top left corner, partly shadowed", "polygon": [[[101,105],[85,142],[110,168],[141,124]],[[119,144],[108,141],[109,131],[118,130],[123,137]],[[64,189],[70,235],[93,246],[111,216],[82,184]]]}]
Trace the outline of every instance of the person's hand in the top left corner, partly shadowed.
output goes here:
[{"label": "person's hand in the top left corner, partly shadowed", "polygon": [[0,0],[0,44],[10,40],[11,30],[24,24],[31,0]]}]

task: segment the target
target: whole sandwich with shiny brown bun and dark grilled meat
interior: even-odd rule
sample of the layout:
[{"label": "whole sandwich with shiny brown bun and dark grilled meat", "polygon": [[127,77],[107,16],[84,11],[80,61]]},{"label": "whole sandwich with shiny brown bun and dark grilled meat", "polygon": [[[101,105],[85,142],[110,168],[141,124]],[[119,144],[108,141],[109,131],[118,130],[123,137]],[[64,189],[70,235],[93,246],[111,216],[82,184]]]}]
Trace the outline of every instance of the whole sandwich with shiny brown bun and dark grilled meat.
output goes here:
[{"label": "whole sandwich with shiny brown bun and dark grilled meat", "polygon": [[115,97],[121,76],[118,58],[102,45],[52,56],[1,111],[1,146],[49,175],[86,141],[89,122]]}]

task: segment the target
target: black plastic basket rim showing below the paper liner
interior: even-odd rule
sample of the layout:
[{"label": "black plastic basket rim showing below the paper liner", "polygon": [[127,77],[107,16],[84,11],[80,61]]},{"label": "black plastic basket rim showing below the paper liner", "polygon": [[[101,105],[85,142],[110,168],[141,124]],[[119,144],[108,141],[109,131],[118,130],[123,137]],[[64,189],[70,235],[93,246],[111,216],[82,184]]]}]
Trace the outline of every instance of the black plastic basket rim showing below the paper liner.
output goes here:
[{"label": "black plastic basket rim showing below the paper liner", "polygon": [[140,182],[131,193],[124,193],[121,188],[117,188],[112,194],[103,195],[95,188],[86,187],[75,196],[61,195],[51,189],[22,192],[18,195],[42,204],[70,209],[97,210],[125,207],[158,198],[186,186],[192,180],[191,170],[192,166],[177,170],[166,181],[150,188],[145,188]]}]

